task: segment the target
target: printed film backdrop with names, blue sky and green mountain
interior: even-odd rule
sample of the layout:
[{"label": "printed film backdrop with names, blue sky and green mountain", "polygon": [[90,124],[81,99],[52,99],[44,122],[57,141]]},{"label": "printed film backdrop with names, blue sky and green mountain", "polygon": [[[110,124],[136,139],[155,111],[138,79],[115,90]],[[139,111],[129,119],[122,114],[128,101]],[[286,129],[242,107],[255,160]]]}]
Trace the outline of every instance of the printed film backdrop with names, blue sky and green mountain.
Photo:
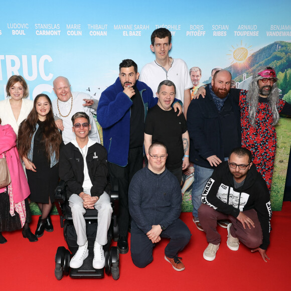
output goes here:
[{"label": "printed film backdrop with names, blue sky and green mountain", "polygon": [[[231,71],[238,88],[245,88],[253,67],[270,64],[282,97],[290,102],[290,11],[289,1],[270,0],[6,1],[0,19],[0,100],[14,74],[27,80],[31,99],[41,92],[55,99],[52,83],[59,75],[70,80],[73,91],[99,98],[118,76],[122,59],[133,59],[139,71],[154,60],[150,37],[165,27],[173,36],[170,55],[185,60],[189,69],[200,67],[201,82],[208,82],[212,68],[221,67]],[[289,153],[290,122],[280,124],[284,133],[278,148]],[[288,154],[277,155],[273,210],[281,207],[288,161]]]}]

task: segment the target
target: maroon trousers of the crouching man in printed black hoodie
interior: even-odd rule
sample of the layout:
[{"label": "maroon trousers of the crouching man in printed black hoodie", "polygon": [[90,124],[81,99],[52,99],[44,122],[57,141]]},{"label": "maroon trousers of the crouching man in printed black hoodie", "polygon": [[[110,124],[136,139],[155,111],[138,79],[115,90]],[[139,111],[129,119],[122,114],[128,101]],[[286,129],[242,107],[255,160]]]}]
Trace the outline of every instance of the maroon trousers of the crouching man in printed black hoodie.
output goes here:
[{"label": "maroon trousers of the crouching man in printed black hoodie", "polygon": [[242,223],[232,215],[226,215],[222,212],[216,211],[208,205],[201,204],[198,209],[198,215],[200,224],[206,233],[207,241],[218,245],[220,243],[220,234],[216,230],[217,220],[229,219],[232,222],[230,234],[233,237],[237,237],[249,248],[256,248],[260,246],[263,240],[263,235],[256,211],[254,209],[250,209],[243,211],[242,213],[254,222],[255,227],[251,226],[249,229],[248,226],[245,225],[244,229]]}]

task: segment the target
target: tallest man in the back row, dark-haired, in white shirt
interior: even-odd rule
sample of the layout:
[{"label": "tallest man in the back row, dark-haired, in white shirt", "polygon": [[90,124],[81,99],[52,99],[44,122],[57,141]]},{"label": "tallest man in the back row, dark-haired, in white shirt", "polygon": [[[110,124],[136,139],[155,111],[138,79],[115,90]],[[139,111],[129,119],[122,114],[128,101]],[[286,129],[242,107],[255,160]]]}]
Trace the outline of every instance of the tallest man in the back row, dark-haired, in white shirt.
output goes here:
[{"label": "tallest man in the back row, dark-haired, in white shirt", "polygon": [[186,63],[181,59],[169,57],[171,39],[171,32],[166,28],[158,28],[152,33],[150,48],[155,53],[156,60],[143,66],[139,80],[147,84],[154,93],[162,81],[172,81],[177,89],[176,98],[184,104],[183,111],[186,117],[193,84]]}]

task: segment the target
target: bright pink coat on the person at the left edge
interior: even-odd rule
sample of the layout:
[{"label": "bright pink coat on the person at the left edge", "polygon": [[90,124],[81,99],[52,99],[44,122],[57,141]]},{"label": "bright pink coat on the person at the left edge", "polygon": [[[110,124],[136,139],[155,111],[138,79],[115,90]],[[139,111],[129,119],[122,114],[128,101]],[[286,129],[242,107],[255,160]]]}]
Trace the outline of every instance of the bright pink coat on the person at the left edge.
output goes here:
[{"label": "bright pink coat on the person at the left edge", "polygon": [[[30,195],[30,190],[16,148],[16,134],[9,124],[0,124],[0,158],[4,152],[7,152],[6,160],[11,176],[13,200],[14,203],[18,203]],[[1,190],[3,188],[0,189],[0,192],[3,192]]]}]

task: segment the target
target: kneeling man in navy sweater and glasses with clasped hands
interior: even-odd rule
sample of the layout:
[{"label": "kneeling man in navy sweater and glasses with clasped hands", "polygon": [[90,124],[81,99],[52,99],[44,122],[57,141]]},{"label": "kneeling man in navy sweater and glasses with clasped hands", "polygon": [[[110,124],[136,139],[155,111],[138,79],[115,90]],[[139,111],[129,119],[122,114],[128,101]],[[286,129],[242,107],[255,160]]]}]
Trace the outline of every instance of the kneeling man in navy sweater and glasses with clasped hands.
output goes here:
[{"label": "kneeling man in navy sweater and glasses with clasped hands", "polygon": [[165,248],[165,260],[176,271],[185,266],[178,252],[188,244],[191,233],[179,219],[182,195],[177,178],[166,169],[167,149],[154,142],[147,154],[149,165],[138,171],[128,189],[131,215],[131,258],[143,268],[153,261],[153,248],[161,237],[170,238]]}]

